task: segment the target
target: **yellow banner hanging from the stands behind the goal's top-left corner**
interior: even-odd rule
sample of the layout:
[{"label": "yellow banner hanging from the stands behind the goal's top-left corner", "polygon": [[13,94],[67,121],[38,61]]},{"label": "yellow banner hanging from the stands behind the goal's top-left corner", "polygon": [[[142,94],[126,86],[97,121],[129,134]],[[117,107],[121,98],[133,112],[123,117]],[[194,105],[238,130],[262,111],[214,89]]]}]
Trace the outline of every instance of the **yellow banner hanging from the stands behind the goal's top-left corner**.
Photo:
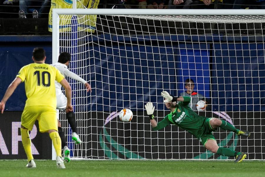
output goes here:
[{"label": "yellow banner hanging from the stands behind the goal's top-left corner", "polygon": [[[76,8],[77,9],[97,9],[99,0],[77,0]],[[52,0],[51,9],[49,12],[49,26],[48,29],[52,32],[52,9],[72,9],[73,1],[72,0]],[[60,15],[60,32],[71,31],[72,15]],[[77,30],[85,30],[87,32],[94,32],[96,28],[97,15],[77,15]]]}]

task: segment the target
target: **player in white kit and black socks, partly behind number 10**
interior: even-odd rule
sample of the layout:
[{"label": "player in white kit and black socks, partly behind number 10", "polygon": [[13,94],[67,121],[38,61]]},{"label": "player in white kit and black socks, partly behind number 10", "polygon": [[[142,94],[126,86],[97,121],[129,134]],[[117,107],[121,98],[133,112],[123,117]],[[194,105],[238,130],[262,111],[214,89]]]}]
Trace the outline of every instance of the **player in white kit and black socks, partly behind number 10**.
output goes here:
[{"label": "player in white kit and black socks, partly behind number 10", "polygon": [[[62,52],[59,55],[59,59],[58,62],[55,64],[52,64],[52,66],[54,66],[55,68],[57,68],[62,75],[64,76],[68,76],[74,80],[77,80],[79,82],[82,82],[85,85],[85,88],[87,89],[87,92],[91,92],[91,86],[89,83],[87,83],[87,81],[85,81],[84,79],[80,78],[79,76],[77,76],[75,73],[69,71],[67,69],[67,66],[69,65],[69,61],[71,60],[71,55],[67,52]],[[66,104],[67,104],[67,98],[64,96],[64,94],[62,93],[62,85],[60,83],[58,83],[57,81],[55,81],[55,90],[56,90],[56,96],[57,96],[57,112],[59,112],[59,109],[65,109],[66,108]],[[74,116],[74,112],[68,112],[66,113],[66,117],[67,120],[72,128],[72,140],[74,140],[75,144],[80,144],[82,141],[80,140],[78,134],[77,134],[77,125],[76,125],[76,121],[75,121],[75,116]],[[61,137],[62,140],[62,149],[64,150],[64,160],[66,162],[70,161],[70,150],[66,145],[66,140],[65,140],[65,135],[64,132],[62,131],[62,127],[61,127],[61,123],[59,122],[59,117],[58,118],[58,132],[59,135]]]}]

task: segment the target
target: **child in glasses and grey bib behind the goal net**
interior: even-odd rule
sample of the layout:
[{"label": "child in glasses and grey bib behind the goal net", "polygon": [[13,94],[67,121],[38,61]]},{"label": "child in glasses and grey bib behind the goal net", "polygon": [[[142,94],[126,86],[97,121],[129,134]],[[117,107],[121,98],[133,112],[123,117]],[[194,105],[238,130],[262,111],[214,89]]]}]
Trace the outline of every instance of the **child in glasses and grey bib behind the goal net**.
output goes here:
[{"label": "child in glasses and grey bib behind the goal net", "polygon": [[[198,101],[203,100],[205,101],[205,98],[202,94],[199,94],[194,91],[194,81],[192,79],[186,79],[185,80],[185,89],[187,91],[180,93],[179,96],[190,96],[191,97],[191,102],[189,103],[189,107],[193,111],[197,111],[196,104]],[[208,104],[208,101],[205,101],[206,104]],[[206,110],[210,111],[211,108],[209,106],[206,106]]]}]

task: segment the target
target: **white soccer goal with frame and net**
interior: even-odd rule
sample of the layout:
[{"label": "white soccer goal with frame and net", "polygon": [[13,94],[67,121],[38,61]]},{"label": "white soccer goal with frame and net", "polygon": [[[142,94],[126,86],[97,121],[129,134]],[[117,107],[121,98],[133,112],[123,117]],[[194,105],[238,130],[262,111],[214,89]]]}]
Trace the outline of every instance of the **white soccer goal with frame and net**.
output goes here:
[{"label": "white soccer goal with frame and net", "polygon": [[[69,69],[89,81],[69,80],[82,145],[71,156],[85,159],[227,159],[206,151],[175,125],[152,131],[144,105],[161,121],[170,112],[161,91],[179,96],[194,81],[203,95],[199,115],[224,119],[248,138],[213,132],[221,147],[265,159],[265,12],[262,10],[53,9],[52,55],[69,52]],[[118,112],[130,109],[129,123]]]}]

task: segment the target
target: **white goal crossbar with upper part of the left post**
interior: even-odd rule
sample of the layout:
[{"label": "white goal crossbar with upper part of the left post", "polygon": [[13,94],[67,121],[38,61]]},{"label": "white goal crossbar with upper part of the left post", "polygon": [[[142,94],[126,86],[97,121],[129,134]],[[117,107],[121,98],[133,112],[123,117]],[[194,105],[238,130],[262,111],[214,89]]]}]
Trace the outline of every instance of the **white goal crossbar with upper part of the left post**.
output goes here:
[{"label": "white goal crossbar with upper part of the left post", "polygon": [[59,56],[59,15],[199,15],[199,16],[263,16],[262,9],[52,9],[52,62]]}]

